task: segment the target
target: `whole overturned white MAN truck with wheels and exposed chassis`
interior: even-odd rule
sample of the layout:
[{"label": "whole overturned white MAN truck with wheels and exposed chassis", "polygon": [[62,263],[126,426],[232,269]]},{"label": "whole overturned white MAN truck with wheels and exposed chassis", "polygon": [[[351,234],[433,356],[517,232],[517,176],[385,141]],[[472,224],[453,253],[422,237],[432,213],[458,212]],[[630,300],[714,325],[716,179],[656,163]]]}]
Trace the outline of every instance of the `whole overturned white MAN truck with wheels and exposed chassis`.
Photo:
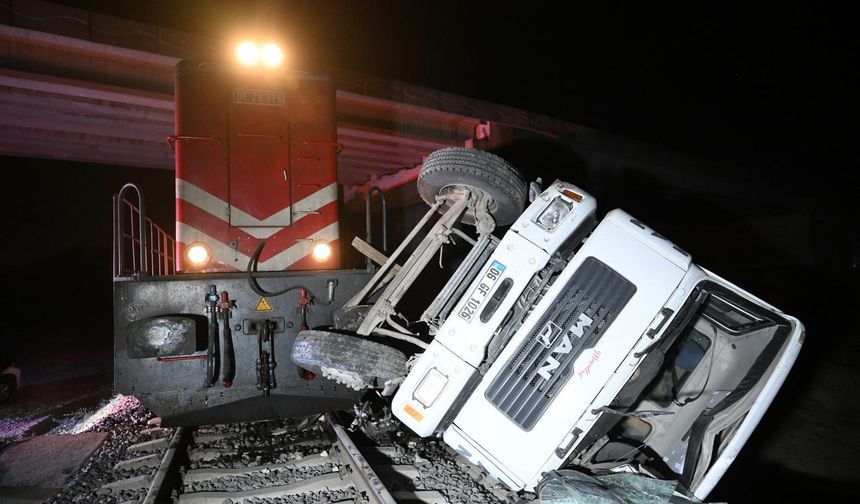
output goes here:
[{"label": "whole overturned white MAN truck with wheels and exposed chassis", "polygon": [[[803,325],[622,210],[597,224],[595,199],[572,184],[532,184],[520,213],[525,182],[492,154],[436,151],[418,187],[430,211],[333,330],[299,335],[296,364],[396,389],[403,424],[512,490],[570,466],[675,479],[706,498],[785,380]],[[495,224],[511,224],[501,239]],[[404,327],[398,302],[452,234],[471,251],[423,329]],[[381,338],[420,351],[407,366]]]}]

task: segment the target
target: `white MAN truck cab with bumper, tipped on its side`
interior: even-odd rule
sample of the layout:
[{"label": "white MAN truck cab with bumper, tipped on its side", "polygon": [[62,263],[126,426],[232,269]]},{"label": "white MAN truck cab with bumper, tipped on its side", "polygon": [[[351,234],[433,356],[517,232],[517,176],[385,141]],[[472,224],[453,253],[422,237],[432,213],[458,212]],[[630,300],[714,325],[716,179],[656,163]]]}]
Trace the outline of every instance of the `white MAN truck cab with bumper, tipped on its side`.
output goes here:
[{"label": "white MAN truck cab with bumper, tipped on its side", "polygon": [[[540,216],[562,203],[572,211],[547,229]],[[705,498],[784,381],[803,325],[622,210],[578,246],[570,238],[589,221],[577,213],[593,211],[592,197],[563,182],[537,198],[392,410],[513,490],[573,464],[676,479]],[[528,292],[553,253],[563,266],[517,312],[525,296],[514,293]]]}]

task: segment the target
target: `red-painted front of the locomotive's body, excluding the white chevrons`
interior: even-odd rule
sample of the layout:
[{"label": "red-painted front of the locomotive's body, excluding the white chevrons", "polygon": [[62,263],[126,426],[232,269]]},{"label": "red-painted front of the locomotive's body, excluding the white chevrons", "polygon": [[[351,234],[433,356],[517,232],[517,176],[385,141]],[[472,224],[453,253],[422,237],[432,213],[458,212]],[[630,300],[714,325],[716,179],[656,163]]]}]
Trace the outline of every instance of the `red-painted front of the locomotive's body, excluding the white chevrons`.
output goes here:
[{"label": "red-painted front of the locomotive's body, excluding the white chevrons", "polygon": [[[250,255],[259,240],[239,227],[259,225],[290,208],[282,219],[267,223],[280,229],[266,238],[261,257],[266,261],[338,221],[337,203],[317,210],[302,208],[300,201],[337,181],[336,101],[330,80],[183,61],[177,66],[176,100],[177,179],[214,197],[202,206],[219,214],[225,204],[231,209],[227,222],[227,214],[211,215],[177,198],[177,270],[187,270],[183,243],[205,240],[183,236],[183,223],[209,236],[213,250],[223,252],[235,242],[238,252]],[[226,258],[207,270],[246,266]],[[321,267],[339,267],[338,254],[323,265],[302,259],[288,269]]]}]

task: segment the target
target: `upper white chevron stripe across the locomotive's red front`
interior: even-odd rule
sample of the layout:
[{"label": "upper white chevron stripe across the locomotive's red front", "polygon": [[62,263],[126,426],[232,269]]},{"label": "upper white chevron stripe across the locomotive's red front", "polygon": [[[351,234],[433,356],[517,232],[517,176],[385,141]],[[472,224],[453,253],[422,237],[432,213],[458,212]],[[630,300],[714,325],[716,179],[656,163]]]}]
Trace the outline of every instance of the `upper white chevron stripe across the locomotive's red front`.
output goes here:
[{"label": "upper white chevron stripe across the locomotive's red front", "polygon": [[300,199],[292,206],[287,206],[263,220],[257,219],[235,206],[231,209],[230,204],[221,198],[179,178],[176,179],[176,197],[205,210],[224,222],[230,222],[230,212],[232,211],[238,220],[242,222],[251,222],[253,223],[253,226],[255,226],[243,226],[239,229],[256,238],[268,238],[282,229],[281,227],[274,227],[274,223],[286,220],[287,217],[290,216],[290,212],[293,214],[292,221],[295,222],[308,215],[310,212],[319,210],[332,201],[336,201],[337,182],[332,182],[310,196]]}]

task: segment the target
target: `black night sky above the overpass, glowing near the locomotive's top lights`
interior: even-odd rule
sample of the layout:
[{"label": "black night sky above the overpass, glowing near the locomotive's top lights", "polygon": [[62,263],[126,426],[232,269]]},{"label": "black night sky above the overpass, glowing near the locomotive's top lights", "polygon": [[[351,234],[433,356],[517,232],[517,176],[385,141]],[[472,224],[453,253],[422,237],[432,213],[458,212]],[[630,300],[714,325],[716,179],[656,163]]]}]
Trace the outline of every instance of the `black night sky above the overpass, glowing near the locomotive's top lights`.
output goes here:
[{"label": "black night sky above the overpass, glowing near the locomotive's top lights", "polygon": [[[570,2],[58,3],[541,112],[774,173],[854,154],[846,7]],[[844,163],[843,163],[844,164]],[[829,167],[828,167],[829,169]]]}]

